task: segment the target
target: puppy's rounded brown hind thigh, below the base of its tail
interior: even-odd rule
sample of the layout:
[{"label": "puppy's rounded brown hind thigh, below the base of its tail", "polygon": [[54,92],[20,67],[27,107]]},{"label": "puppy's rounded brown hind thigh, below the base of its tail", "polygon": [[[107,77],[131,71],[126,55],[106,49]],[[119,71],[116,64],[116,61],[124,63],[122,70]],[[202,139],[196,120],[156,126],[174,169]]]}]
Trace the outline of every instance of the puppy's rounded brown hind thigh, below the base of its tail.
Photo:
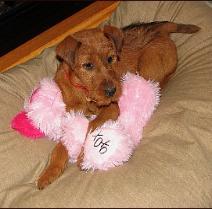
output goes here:
[{"label": "puppy's rounded brown hind thigh, below the base of its tail", "polygon": [[138,62],[138,72],[146,80],[154,80],[163,87],[177,66],[177,50],[168,37],[155,38],[146,48]]}]

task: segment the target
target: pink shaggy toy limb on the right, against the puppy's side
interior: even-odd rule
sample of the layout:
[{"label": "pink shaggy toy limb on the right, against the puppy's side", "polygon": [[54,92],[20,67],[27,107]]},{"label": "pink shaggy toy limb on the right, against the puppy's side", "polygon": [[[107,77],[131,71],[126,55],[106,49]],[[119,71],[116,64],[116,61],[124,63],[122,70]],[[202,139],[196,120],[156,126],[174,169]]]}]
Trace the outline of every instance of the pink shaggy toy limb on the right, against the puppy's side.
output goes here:
[{"label": "pink shaggy toy limb on the right, against the puppy's side", "polygon": [[147,81],[139,75],[127,73],[124,77],[118,120],[132,136],[135,146],[140,142],[143,127],[159,103],[159,90],[158,83]]}]

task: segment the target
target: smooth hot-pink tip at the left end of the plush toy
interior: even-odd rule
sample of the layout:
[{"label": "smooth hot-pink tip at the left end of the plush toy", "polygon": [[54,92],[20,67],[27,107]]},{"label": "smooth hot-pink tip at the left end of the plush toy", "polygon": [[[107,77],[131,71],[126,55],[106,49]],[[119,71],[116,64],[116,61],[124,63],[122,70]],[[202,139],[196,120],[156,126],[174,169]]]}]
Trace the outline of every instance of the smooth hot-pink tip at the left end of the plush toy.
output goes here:
[{"label": "smooth hot-pink tip at the left end of the plush toy", "polygon": [[19,112],[11,121],[11,127],[18,131],[23,136],[26,136],[31,139],[38,139],[44,137],[39,129],[35,128],[32,125],[31,120],[27,117],[25,111]]}]

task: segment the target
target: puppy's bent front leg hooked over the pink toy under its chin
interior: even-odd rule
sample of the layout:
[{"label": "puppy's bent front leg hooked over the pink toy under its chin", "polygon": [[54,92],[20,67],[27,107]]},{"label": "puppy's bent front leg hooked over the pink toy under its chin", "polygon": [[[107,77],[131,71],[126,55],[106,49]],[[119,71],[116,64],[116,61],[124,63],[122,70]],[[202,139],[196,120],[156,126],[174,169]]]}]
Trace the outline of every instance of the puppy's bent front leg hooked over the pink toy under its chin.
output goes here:
[{"label": "puppy's bent front leg hooked over the pink toy under its chin", "polygon": [[[93,132],[96,128],[102,126],[108,120],[117,120],[120,114],[119,106],[117,103],[112,103],[109,106],[103,107],[99,115],[89,122],[87,134]],[[86,135],[87,136],[87,135]],[[84,148],[77,158],[77,166],[81,169],[81,163],[84,158]]]}]

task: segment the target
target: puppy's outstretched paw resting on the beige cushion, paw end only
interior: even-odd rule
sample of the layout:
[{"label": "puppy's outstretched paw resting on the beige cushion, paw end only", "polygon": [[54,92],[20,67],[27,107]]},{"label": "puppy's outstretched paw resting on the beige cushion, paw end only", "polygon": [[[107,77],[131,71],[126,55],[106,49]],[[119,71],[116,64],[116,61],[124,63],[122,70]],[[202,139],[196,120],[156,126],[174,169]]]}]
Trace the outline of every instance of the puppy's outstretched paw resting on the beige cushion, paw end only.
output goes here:
[{"label": "puppy's outstretched paw resting on the beige cushion, paw end only", "polygon": [[39,177],[37,181],[37,187],[39,190],[44,189],[57,179],[62,174],[62,169],[59,167],[52,167],[45,170],[45,172]]}]

